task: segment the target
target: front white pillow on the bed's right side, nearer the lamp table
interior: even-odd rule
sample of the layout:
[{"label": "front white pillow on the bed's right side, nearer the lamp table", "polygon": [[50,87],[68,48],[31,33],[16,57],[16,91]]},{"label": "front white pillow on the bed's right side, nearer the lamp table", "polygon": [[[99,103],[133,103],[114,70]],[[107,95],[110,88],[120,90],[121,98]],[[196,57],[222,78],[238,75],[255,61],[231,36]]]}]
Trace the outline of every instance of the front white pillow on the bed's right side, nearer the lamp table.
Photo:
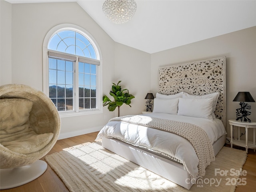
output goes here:
[{"label": "front white pillow on the bed's right side, nearer the lamp table", "polygon": [[212,120],[213,98],[185,99],[179,98],[178,115],[206,118]]}]

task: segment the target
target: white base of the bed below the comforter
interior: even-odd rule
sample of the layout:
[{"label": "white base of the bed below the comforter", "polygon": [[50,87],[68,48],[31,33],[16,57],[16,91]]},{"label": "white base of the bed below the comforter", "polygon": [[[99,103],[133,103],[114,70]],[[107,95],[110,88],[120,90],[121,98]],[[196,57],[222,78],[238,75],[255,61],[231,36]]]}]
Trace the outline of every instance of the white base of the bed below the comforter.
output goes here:
[{"label": "white base of the bed below the comforter", "polygon": [[[215,156],[224,146],[225,142],[226,135],[223,135],[214,142],[213,149]],[[186,179],[190,179],[190,175],[184,170],[183,165],[167,157],[137,148],[113,138],[103,137],[102,146],[188,190],[193,185],[186,182]]]}]

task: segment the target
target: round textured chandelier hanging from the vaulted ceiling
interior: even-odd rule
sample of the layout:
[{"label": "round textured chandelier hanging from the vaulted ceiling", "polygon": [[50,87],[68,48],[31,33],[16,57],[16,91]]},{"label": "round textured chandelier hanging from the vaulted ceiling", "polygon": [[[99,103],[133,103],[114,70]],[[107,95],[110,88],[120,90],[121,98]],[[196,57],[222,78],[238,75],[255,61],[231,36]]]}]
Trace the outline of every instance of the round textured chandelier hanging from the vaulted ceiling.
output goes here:
[{"label": "round textured chandelier hanging from the vaulted ceiling", "polygon": [[134,0],[106,0],[102,6],[104,14],[115,24],[128,22],[136,9],[137,4]]}]

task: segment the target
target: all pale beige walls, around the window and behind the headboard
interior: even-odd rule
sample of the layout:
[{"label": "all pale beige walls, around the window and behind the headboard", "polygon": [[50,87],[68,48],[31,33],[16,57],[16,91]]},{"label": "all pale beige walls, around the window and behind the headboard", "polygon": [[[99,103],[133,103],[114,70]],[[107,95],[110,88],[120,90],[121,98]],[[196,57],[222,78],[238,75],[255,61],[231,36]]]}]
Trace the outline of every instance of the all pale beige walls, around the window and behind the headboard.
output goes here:
[{"label": "all pale beige walls, around the window and behind the headboard", "polygon": [[[44,37],[54,26],[70,23],[88,31],[99,45],[103,60],[103,94],[109,94],[112,82],[122,80],[122,87],[136,97],[132,108],[120,108],[120,115],[140,114],[145,110],[146,93],[156,94],[158,90],[158,67],[218,56],[226,56],[227,120],[235,118],[235,109],[239,106],[232,100],[238,91],[250,91],[256,99],[256,27],[150,55],[115,43],[75,2],[10,4],[0,1],[0,10],[0,84],[20,83],[42,90]],[[250,104],[250,118],[256,121],[256,103]],[[61,135],[69,137],[99,130],[114,116],[117,110],[109,112],[106,106],[102,114],[62,118]],[[229,125],[226,127],[230,136]]]}]

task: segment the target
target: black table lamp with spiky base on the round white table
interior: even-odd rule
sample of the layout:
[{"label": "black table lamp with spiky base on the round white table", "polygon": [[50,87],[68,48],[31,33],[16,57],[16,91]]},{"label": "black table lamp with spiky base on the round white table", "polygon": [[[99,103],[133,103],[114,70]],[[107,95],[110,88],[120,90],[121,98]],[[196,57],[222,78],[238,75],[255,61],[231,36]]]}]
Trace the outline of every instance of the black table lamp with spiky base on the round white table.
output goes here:
[{"label": "black table lamp with spiky base on the round white table", "polygon": [[241,108],[236,109],[236,120],[241,120],[244,122],[251,122],[251,120],[247,117],[251,114],[251,112],[247,111],[251,109],[251,106],[244,102],[255,102],[252,98],[250,92],[238,92],[233,101],[240,102],[239,105]]}]

